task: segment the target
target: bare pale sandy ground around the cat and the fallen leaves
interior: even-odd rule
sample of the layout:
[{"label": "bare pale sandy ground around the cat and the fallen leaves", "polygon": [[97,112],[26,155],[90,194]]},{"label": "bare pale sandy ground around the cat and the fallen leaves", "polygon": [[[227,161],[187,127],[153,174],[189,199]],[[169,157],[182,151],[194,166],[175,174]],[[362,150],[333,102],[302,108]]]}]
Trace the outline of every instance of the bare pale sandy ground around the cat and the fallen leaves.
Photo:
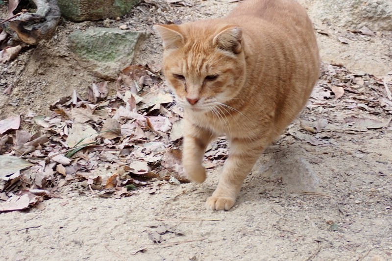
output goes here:
[{"label": "bare pale sandy ground around the cat and the fallen leaves", "polygon": [[[236,4],[227,2],[197,1],[199,6],[181,7],[172,16],[183,20],[220,16]],[[128,15],[113,26],[138,19]],[[58,93],[86,90],[96,80],[69,58],[65,47],[66,35],[77,26],[94,23],[64,22],[57,42],[27,50],[20,62],[1,65],[2,79],[19,88],[11,96],[0,95],[1,113],[45,110]],[[390,32],[372,40],[377,51],[374,59],[368,59],[359,50],[368,50],[369,41],[357,36],[355,44],[342,44],[337,38],[347,33],[344,29],[315,24],[328,26],[330,36],[318,34],[324,61],[377,76],[391,71],[386,59]],[[137,61],[157,62],[160,52],[159,40],[152,37]],[[42,54],[49,65],[41,67]],[[50,64],[56,64],[57,71]],[[37,95],[46,99],[34,99]],[[18,106],[9,104],[15,101]],[[0,259],[391,260],[391,140],[390,130],[368,130],[342,133],[334,146],[321,147],[282,135],[260,158],[237,205],[228,212],[204,208],[219,168],[209,171],[202,185],[157,181],[152,186],[155,193],[148,187],[122,199],[64,191],[62,199],[45,201],[41,210],[0,214]]]}]

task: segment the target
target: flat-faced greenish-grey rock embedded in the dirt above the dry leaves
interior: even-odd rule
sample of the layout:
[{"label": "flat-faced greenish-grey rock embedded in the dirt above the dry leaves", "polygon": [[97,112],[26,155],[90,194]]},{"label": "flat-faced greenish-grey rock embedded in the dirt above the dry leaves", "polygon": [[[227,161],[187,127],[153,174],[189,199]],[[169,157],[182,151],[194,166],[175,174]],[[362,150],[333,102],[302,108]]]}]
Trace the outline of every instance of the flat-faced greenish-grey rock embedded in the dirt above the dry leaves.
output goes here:
[{"label": "flat-faced greenish-grey rock embedded in the dirt above the dry leaves", "polygon": [[132,63],[135,50],[150,33],[115,28],[91,28],[68,37],[68,47],[79,64],[96,76],[117,78]]}]

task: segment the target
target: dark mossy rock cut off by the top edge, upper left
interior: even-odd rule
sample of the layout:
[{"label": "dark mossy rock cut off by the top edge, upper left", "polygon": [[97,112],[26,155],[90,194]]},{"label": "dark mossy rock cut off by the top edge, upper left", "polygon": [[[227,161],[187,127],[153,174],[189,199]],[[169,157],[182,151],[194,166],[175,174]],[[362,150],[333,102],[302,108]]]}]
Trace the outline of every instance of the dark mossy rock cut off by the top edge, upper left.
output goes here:
[{"label": "dark mossy rock cut off by the top edge, upper left", "polygon": [[140,0],[57,0],[61,14],[71,21],[95,21],[128,13]]}]

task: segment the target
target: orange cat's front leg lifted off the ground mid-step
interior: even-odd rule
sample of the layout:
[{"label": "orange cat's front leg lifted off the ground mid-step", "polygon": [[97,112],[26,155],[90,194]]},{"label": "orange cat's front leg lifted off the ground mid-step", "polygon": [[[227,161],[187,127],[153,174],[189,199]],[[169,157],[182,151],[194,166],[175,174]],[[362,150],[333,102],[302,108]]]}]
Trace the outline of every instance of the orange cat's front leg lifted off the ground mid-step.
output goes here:
[{"label": "orange cat's front leg lifted off the ground mid-step", "polygon": [[205,168],[202,166],[204,151],[214,137],[209,130],[185,121],[182,166],[190,180],[204,182],[206,178]]}]

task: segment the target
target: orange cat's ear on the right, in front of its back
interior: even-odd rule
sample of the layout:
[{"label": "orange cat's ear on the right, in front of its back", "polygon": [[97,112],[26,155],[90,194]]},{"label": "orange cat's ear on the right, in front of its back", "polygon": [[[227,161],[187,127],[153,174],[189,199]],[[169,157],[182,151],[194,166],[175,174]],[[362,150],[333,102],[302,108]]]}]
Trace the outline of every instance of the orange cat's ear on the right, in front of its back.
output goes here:
[{"label": "orange cat's ear on the right, in front of its back", "polygon": [[223,50],[240,53],[242,50],[242,28],[236,26],[226,26],[219,32],[213,40],[213,45]]}]

